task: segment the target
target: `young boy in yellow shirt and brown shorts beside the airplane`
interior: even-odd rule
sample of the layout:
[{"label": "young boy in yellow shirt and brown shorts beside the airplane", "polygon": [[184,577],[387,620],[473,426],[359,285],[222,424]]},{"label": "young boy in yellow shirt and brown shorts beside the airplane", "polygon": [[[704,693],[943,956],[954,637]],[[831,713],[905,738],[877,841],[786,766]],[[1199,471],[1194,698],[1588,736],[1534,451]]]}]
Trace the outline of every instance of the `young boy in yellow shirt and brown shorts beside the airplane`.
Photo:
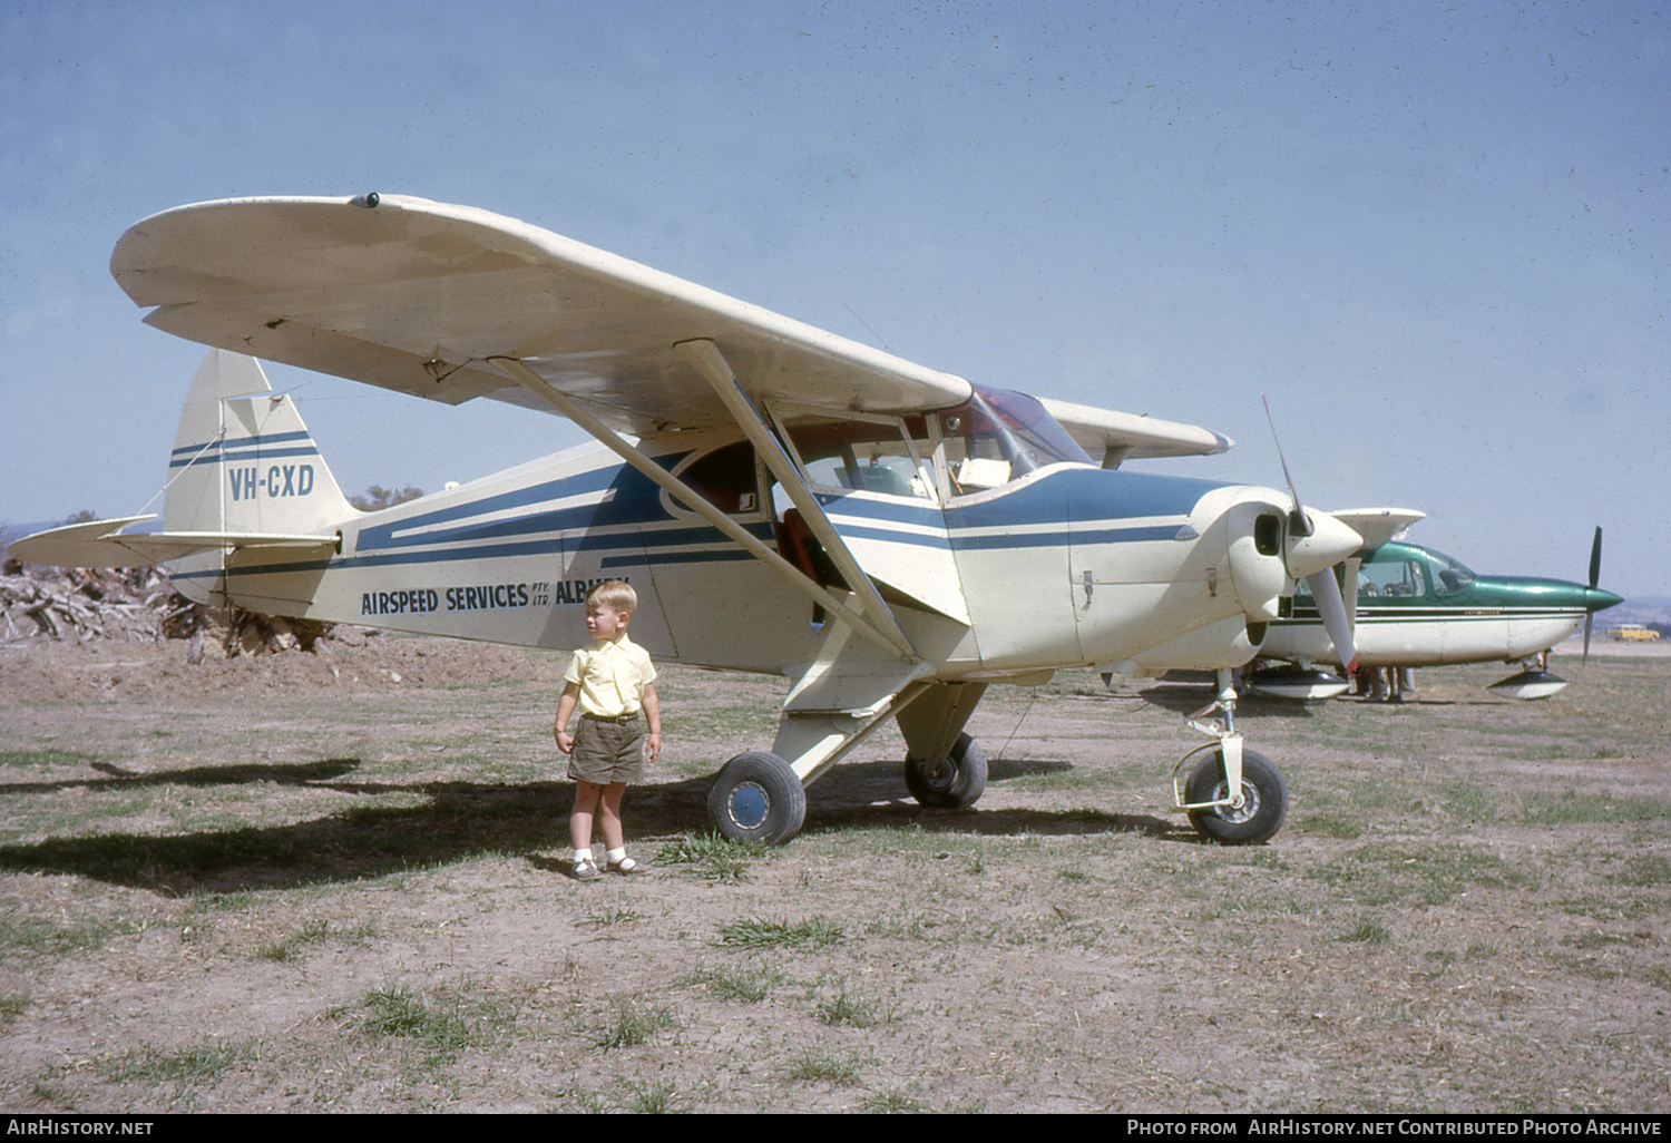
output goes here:
[{"label": "young boy in yellow shirt and brown shorts beside the airplane", "polygon": [[[556,700],[556,749],[568,755],[568,777],[575,780],[568,839],[575,846],[576,881],[603,876],[592,859],[593,814],[602,819],[603,869],[627,876],[650,872],[627,856],[622,834],[622,794],[628,782],[643,777],[645,762],[655,762],[662,752],[655,667],[643,648],[627,638],[627,623],[637,608],[638,593],[622,580],[605,580],[587,592],[587,633],[593,642],[575,652],[563,673],[563,697]],[[580,720],[570,734],[566,727],[576,707]]]}]

